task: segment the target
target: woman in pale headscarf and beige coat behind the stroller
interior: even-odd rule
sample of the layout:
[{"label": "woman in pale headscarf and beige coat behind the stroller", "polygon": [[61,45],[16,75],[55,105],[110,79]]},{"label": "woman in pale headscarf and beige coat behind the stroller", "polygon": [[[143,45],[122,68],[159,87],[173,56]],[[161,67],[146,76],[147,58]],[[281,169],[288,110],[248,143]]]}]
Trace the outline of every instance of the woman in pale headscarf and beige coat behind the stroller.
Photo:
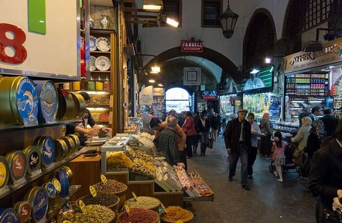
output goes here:
[{"label": "woman in pale headscarf and beige coat behind the stroller", "polygon": [[293,157],[295,158],[295,163],[299,165],[301,169],[303,169],[304,164],[302,161],[302,156],[308,137],[310,135],[312,120],[310,117],[304,117],[301,119],[301,123],[302,125],[299,128],[297,135],[292,138],[291,141],[298,143],[298,148],[295,150]]}]

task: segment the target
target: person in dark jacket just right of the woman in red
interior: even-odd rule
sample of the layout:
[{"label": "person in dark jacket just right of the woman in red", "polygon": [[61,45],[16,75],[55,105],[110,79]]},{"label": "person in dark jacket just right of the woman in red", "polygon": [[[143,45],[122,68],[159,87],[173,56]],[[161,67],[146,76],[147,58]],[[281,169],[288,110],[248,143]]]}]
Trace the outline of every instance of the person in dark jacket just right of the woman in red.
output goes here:
[{"label": "person in dark jacket just right of the woman in red", "polygon": [[201,156],[205,156],[209,139],[210,122],[204,112],[201,112],[200,119],[196,122],[195,130],[201,140]]}]

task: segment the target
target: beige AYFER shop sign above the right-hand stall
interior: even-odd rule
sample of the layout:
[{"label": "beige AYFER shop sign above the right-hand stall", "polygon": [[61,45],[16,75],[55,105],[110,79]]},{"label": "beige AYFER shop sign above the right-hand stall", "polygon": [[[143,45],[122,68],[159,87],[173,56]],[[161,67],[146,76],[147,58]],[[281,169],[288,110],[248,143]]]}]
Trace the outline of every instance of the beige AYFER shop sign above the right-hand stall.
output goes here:
[{"label": "beige AYFER shop sign above the right-hand stall", "polygon": [[298,52],[283,58],[284,73],[292,73],[342,61],[342,38],[323,44],[322,51]]}]

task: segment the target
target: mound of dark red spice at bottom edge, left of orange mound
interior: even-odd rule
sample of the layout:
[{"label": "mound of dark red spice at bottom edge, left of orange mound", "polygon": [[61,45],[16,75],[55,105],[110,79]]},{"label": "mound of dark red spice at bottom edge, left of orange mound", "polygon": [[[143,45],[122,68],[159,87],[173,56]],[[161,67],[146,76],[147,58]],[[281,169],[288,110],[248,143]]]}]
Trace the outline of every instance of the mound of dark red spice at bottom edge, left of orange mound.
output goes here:
[{"label": "mound of dark red spice at bottom edge, left of orange mound", "polygon": [[159,218],[156,212],[144,208],[131,208],[129,215],[125,211],[120,214],[119,221],[121,223],[154,223]]}]

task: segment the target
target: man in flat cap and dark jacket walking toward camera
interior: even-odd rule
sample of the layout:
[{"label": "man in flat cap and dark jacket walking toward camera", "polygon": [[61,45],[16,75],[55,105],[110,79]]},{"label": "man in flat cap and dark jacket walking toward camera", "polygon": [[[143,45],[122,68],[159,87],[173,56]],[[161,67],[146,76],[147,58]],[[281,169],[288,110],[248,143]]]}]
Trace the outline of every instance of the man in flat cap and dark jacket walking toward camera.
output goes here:
[{"label": "man in flat cap and dark jacket walking toward camera", "polygon": [[251,124],[246,120],[247,110],[239,109],[238,118],[229,122],[224,142],[229,154],[229,178],[233,181],[237,161],[241,160],[241,185],[245,190],[250,190],[247,183],[248,152],[251,148]]}]

